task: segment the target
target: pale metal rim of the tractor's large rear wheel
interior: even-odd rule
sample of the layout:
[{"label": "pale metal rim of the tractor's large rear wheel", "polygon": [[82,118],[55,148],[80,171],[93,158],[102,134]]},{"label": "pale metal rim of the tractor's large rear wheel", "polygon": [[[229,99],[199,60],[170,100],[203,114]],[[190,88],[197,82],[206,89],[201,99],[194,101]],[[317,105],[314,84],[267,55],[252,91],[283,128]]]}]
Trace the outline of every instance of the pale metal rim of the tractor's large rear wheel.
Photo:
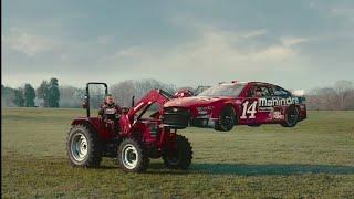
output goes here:
[{"label": "pale metal rim of the tractor's large rear wheel", "polygon": [[82,161],[87,156],[88,143],[83,134],[76,134],[71,143],[71,154],[76,161]]}]

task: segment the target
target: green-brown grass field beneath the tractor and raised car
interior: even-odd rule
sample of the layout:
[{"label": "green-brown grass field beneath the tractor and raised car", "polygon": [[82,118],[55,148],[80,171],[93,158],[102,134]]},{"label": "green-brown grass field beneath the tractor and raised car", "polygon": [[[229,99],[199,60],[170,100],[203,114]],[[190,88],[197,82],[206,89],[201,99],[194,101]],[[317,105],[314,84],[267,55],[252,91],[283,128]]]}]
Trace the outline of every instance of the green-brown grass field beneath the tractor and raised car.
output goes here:
[{"label": "green-brown grass field beneath the tractor and raised car", "polygon": [[8,108],[2,115],[2,198],[354,198],[354,112],[310,112],[295,128],[187,128],[188,171],[153,160],[146,174],[125,174],[112,159],[72,168],[65,155],[70,122],[82,109]]}]

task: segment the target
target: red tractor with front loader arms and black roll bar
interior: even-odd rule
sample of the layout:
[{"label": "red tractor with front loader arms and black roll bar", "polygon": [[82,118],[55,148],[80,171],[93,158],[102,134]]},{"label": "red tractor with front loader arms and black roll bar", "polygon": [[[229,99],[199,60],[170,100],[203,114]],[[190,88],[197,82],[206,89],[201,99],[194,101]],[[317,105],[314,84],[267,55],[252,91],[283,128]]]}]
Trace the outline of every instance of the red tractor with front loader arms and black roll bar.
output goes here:
[{"label": "red tractor with front loader arms and black roll bar", "polygon": [[[177,129],[188,126],[189,111],[185,108],[163,109],[163,104],[175,96],[163,90],[149,91],[136,105],[132,97],[132,107],[123,108],[119,115],[118,130],[107,127],[101,117],[90,114],[90,85],[105,83],[91,82],[86,84],[86,95],[83,107],[86,117],[77,117],[72,122],[67,135],[67,156],[73,166],[97,167],[102,157],[116,158],[125,171],[144,171],[149,158],[163,158],[164,164],[173,169],[187,169],[191,163],[192,149],[188,139],[177,134]],[[153,105],[159,111],[149,118],[143,115]]]}]

